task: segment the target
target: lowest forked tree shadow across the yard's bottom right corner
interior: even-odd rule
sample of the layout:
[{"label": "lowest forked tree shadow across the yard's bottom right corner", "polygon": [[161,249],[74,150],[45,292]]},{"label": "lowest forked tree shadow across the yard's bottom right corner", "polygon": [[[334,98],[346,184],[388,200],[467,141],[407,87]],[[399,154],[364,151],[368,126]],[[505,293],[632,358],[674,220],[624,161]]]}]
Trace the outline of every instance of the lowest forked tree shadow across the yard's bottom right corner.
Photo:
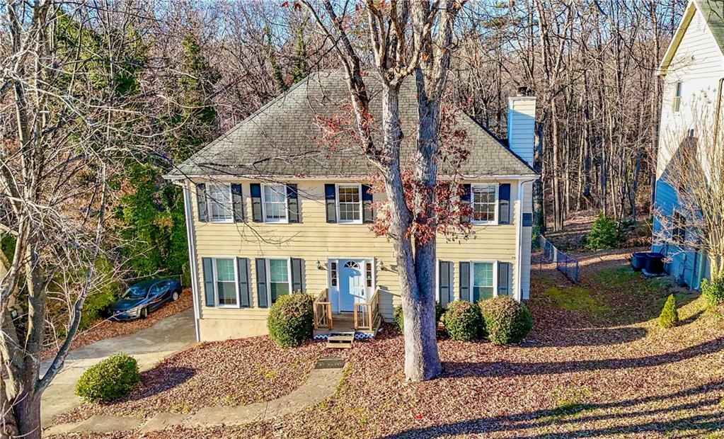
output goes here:
[{"label": "lowest forked tree shadow across the yard's bottom right corner", "polygon": [[[527,413],[501,415],[496,417],[485,417],[478,419],[466,419],[460,422],[434,425],[432,427],[420,427],[386,438],[439,438],[442,436],[456,435],[489,435],[493,432],[510,432],[508,438],[551,438],[555,435],[563,435],[567,438],[592,438],[597,436],[610,435],[645,435],[647,432],[673,432],[674,430],[696,431],[697,434],[704,432],[720,431],[724,426],[724,411],[718,409],[718,398],[701,398],[703,395],[712,393],[715,390],[722,390],[724,381],[710,382],[696,388],[681,390],[660,396],[649,396],[645,398],[632,398],[626,401],[614,401],[600,404],[581,405],[578,411],[566,411],[561,416],[560,409],[545,409]],[[677,401],[681,398],[696,398],[678,405],[658,406],[657,408],[645,408],[645,404],[665,404],[666,401]],[[689,411],[695,409],[712,408],[709,411],[702,411],[701,414],[689,414],[679,419],[670,419],[677,411]],[[601,413],[594,411],[631,409],[623,413]],[[628,425],[611,425],[615,421],[626,422],[631,417],[665,415],[668,420],[650,422],[631,422]],[[664,417],[664,416],[662,416]],[[587,427],[587,423],[605,421],[607,427]],[[561,432],[561,427],[573,427],[572,430]],[[576,426],[578,430],[576,430]],[[544,427],[555,427],[555,434],[552,433],[527,433],[520,432],[528,429],[540,430]]]}]

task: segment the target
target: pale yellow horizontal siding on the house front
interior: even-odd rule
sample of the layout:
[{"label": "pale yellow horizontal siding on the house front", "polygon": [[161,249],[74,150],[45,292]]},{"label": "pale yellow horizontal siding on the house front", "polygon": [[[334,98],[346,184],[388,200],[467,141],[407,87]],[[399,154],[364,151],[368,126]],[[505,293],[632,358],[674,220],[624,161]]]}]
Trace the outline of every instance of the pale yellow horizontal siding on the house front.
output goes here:
[{"label": "pale yellow horizontal siding on the house front", "polygon": [[[201,319],[256,321],[262,325],[266,319],[267,309],[256,308],[258,289],[256,286],[256,258],[295,257],[304,261],[303,285],[307,293],[316,296],[327,288],[327,269],[317,269],[319,260],[326,267],[328,258],[374,258],[386,268],[376,270],[376,288],[380,293],[380,312],[384,319],[392,319],[393,306],[400,303],[399,283],[395,269],[392,243],[387,238],[375,237],[369,224],[337,224],[328,223],[325,215],[324,181],[290,181],[298,185],[300,222],[292,224],[267,224],[252,222],[250,180],[242,182],[244,210],[248,224],[244,223],[211,223],[198,222],[195,188],[191,188],[196,254],[198,257],[198,279],[203,289],[203,273],[201,259],[214,256],[239,256],[249,259],[250,296],[249,309],[219,309],[205,306],[203,290],[198,297],[201,300]],[[439,236],[437,241],[437,258],[454,262],[452,290],[459,297],[459,265],[460,261],[471,259],[494,259],[500,262],[515,262],[515,233],[518,227],[519,206],[518,184],[514,180],[502,181],[510,183],[510,203],[514,224],[511,225],[474,225],[474,234],[468,240]],[[375,194],[379,201],[381,194]],[[513,285],[515,290],[516,264],[513,264]],[[222,338],[204,335],[204,328],[209,322],[201,324],[201,338]],[[221,325],[221,322],[219,322]],[[216,325],[216,327],[219,327]],[[259,326],[261,327],[261,326]],[[214,332],[218,332],[214,329]]]}]

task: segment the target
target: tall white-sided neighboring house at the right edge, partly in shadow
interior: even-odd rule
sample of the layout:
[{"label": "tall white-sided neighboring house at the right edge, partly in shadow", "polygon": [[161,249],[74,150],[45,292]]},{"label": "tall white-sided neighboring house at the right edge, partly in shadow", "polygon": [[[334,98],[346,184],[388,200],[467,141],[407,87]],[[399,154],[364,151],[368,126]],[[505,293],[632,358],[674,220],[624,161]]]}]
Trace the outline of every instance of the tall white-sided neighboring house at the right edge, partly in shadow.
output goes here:
[{"label": "tall white-sided neighboring house at the right edge, partly in shadow", "polygon": [[654,237],[665,235],[668,240],[657,239],[653,249],[670,259],[665,266],[670,275],[695,289],[710,277],[709,264],[705,254],[687,245],[686,215],[677,210],[680,203],[666,180],[667,166],[686,138],[695,140],[701,130],[715,129],[724,80],[723,51],[724,2],[689,1],[658,70],[663,99],[654,209],[668,218],[668,225],[654,217]]}]

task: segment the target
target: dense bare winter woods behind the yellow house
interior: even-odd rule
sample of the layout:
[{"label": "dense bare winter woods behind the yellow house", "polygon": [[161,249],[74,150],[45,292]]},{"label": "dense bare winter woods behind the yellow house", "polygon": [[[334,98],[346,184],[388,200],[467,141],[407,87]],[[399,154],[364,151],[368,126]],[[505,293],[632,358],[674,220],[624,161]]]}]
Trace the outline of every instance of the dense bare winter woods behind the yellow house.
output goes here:
[{"label": "dense bare winter woods behind the yellow house", "polygon": [[[661,101],[655,72],[685,6],[685,0],[466,4],[448,99],[505,138],[508,96],[520,86],[537,96],[542,227],[560,229],[571,212],[585,209],[649,217]],[[217,133],[308,72],[338,67],[330,41],[293,1],[187,3],[164,12],[140,34],[167,59],[183,35],[198,38],[219,72],[211,96]]]}]

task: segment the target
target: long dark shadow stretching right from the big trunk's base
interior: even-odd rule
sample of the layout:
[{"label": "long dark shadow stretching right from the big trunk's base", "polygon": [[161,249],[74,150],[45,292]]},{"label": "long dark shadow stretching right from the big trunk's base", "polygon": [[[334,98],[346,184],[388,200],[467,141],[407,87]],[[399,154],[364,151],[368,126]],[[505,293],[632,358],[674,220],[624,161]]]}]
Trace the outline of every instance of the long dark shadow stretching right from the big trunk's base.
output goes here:
[{"label": "long dark shadow stretching right from the big trunk's base", "polygon": [[724,337],[716,338],[696,346],[666,354],[639,358],[593,359],[580,361],[481,361],[476,363],[443,362],[443,374],[446,377],[515,377],[521,375],[556,375],[568,372],[590,372],[592,370],[628,369],[634,367],[654,367],[662,364],[683,361],[713,354],[724,350]]}]

